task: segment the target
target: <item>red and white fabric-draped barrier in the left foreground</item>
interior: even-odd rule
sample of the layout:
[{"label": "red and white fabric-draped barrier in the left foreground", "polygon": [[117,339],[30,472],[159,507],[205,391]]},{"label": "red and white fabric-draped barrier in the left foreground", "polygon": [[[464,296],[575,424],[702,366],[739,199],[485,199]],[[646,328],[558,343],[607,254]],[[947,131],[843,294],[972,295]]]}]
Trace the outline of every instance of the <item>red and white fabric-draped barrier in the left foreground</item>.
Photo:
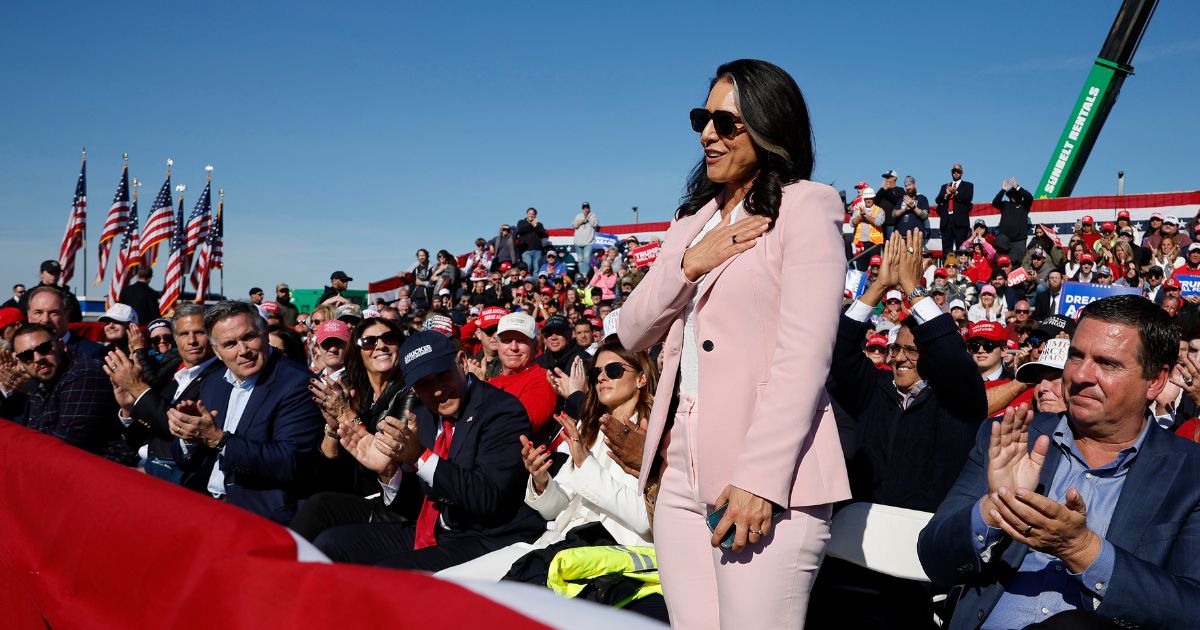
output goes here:
[{"label": "red and white fabric-draped barrier in the left foreground", "polygon": [[302,562],[323,558],[284,527],[6,420],[0,462],[0,628],[650,626],[523,584]]}]

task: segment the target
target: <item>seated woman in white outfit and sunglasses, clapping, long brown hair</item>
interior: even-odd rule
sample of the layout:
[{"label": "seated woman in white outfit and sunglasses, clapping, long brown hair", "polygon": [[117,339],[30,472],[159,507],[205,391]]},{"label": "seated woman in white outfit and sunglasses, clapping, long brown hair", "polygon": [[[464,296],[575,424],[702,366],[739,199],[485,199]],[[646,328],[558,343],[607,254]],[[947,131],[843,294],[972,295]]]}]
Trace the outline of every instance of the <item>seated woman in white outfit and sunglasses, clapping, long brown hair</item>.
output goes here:
[{"label": "seated woman in white outfit and sunglasses, clapping, long brown hair", "polygon": [[[526,503],[551,521],[546,533],[533,544],[510,545],[438,575],[498,581],[526,553],[559,542],[588,523],[601,523],[618,545],[652,544],[637,478],[610,454],[600,425],[614,420],[632,431],[644,424],[654,403],[658,368],[648,354],[629,352],[614,338],[601,346],[589,376],[578,422],[560,415],[563,430],[550,448],[521,437],[529,470]],[[566,461],[551,475],[556,451]]]}]

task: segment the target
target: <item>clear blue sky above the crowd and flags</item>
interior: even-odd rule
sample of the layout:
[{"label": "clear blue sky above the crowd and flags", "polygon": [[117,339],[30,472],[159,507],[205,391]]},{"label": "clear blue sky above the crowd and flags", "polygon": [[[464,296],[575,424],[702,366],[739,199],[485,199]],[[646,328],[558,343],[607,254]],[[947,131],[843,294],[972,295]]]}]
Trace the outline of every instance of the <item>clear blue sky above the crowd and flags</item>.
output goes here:
[{"label": "clear blue sky above the crowd and flags", "polygon": [[[186,5],[186,6],[185,6]],[[0,38],[0,293],[58,251],[89,152],[89,262],[120,175],[226,188],[227,293],[353,288],[536,206],[670,217],[715,67],[788,70],[815,179],[952,162],[1036,186],[1120,2],[17,2]],[[1075,194],[1195,188],[1200,4],[1164,0]],[[162,265],[156,270],[161,276]],[[158,286],[161,277],[155,278]],[[77,282],[78,283],[78,282]],[[73,284],[77,284],[73,283]],[[100,288],[90,294],[97,295]]]}]

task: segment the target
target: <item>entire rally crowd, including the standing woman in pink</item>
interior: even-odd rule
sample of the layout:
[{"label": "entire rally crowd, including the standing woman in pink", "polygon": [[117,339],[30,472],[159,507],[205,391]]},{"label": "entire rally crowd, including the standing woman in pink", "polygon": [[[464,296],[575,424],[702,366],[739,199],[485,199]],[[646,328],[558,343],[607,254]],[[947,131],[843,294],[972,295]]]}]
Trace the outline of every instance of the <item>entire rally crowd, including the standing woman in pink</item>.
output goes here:
[{"label": "entire rally crowd, including the standing woman in pink", "polygon": [[[0,418],[335,562],[678,628],[1194,623],[1200,298],[1175,275],[1200,217],[1084,217],[1062,242],[1009,178],[991,229],[961,164],[932,205],[894,170],[846,204],[809,181],[791,77],[715,77],[649,266],[594,247],[588,203],[569,247],[530,208],[466,264],[418,251],[390,301],[335,271],[311,312],[278,283],[164,318],[134,283],[89,328],[48,260],[0,307]],[[1141,294],[1076,320],[1064,281]],[[850,502],[932,514],[930,581],[827,558]]]}]

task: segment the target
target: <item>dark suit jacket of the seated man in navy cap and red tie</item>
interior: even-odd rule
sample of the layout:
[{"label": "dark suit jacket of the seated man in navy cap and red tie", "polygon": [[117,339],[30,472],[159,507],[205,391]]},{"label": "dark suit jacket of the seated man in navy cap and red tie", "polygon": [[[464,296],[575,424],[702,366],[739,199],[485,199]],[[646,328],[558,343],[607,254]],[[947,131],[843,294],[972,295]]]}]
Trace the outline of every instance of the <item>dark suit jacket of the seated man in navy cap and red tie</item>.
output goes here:
[{"label": "dark suit jacket of the seated man in navy cap and red tie", "polygon": [[[440,420],[424,406],[415,409],[421,445],[433,448]],[[533,428],[515,396],[470,379],[455,421],[450,456],[440,460],[433,484],[421,493],[442,504],[438,536],[538,538],[546,521],[524,503],[529,473],[521,460],[521,436]]]}]

